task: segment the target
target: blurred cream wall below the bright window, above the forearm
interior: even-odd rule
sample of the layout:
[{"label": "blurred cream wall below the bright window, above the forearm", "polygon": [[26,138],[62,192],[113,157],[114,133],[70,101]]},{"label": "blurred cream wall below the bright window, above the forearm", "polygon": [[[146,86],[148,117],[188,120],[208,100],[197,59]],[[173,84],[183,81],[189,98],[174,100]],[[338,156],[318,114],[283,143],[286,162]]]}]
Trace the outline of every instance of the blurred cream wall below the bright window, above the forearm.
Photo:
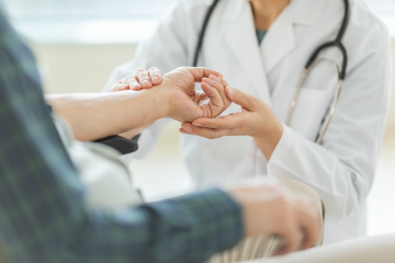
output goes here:
[{"label": "blurred cream wall below the bright window, above the forearm", "polygon": [[31,45],[46,93],[100,92],[111,70],[132,59],[136,45]]}]

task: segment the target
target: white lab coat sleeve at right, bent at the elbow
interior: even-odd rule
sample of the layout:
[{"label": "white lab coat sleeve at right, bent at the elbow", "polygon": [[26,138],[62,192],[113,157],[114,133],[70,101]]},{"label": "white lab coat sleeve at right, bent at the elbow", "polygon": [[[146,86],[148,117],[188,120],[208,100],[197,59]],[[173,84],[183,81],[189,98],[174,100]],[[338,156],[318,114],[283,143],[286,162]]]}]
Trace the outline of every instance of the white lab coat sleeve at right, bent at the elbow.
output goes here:
[{"label": "white lab coat sleeve at right, bent at the elbow", "polygon": [[[328,219],[350,217],[373,185],[392,87],[390,37],[377,24],[356,47],[335,116],[321,145],[284,125],[268,163],[269,176],[311,185]],[[356,57],[357,57],[356,56]]]}]

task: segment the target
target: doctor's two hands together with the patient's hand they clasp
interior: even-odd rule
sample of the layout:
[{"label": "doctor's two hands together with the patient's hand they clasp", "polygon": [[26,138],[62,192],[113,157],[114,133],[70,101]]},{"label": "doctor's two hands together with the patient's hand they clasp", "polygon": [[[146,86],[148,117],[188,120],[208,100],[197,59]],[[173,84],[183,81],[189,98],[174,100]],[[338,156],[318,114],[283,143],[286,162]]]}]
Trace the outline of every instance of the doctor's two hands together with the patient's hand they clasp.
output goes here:
[{"label": "doctor's two hands together with the patient's hand they clasp", "polygon": [[[194,83],[201,82],[202,91]],[[269,160],[283,134],[283,125],[273,111],[258,98],[230,88],[222,75],[204,68],[178,68],[161,76],[157,68],[139,69],[116,82],[111,91],[161,90],[168,102],[168,115],[182,123],[180,133],[207,139],[224,136],[250,136]],[[241,112],[218,117],[232,103]]]}]

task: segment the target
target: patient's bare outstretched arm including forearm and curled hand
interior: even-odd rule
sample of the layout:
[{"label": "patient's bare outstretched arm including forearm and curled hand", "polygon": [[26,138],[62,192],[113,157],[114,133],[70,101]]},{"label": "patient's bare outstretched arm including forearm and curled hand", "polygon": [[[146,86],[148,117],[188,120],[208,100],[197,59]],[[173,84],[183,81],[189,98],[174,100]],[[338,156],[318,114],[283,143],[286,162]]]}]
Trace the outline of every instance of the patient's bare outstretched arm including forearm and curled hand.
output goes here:
[{"label": "patient's bare outstretched arm including forearm and curled hand", "polygon": [[137,134],[163,117],[180,122],[216,117],[230,104],[222,99],[224,89],[205,85],[203,93],[194,90],[194,82],[212,75],[221,77],[203,68],[179,68],[163,76],[160,85],[138,92],[47,95],[46,100],[69,122],[78,140],[97,140],[129,130]]}]

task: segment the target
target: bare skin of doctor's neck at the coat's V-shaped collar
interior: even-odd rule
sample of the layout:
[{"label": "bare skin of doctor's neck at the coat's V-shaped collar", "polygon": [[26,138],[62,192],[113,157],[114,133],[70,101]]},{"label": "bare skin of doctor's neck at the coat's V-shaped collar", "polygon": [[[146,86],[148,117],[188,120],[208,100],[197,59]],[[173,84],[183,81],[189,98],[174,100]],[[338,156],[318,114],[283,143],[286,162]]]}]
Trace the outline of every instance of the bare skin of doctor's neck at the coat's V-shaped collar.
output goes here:
[{"label": "bare skin of doctor's neck at the coat's V-shaped collar", "polygon": [[251,2],[257,30],[269,30],[291,0],[248,0]]}]

